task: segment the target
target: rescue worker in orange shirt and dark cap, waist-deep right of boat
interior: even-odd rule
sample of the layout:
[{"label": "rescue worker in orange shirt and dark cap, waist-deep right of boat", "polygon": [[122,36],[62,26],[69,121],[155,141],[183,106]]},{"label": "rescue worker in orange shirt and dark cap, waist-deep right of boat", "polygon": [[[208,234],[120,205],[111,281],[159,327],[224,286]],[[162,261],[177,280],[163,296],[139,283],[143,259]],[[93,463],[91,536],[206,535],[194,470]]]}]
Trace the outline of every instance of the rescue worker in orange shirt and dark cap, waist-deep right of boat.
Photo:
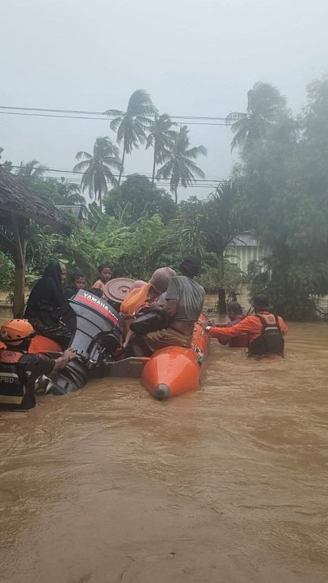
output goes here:
[{"label": "rescue worker in orange shirt and dark cap, waist-deep right of boat", "polygon": [[247,334],[249,357],[269,357],[272,354],[284,356],[284,335],[288,328],[282,318],[273,313],[269,298],[259,294],[251,300],[255,314],[246,316],[241,322],[229,328],[207,325],[206,332],[211,338],[224,341],[228,337],[237,338]]}]

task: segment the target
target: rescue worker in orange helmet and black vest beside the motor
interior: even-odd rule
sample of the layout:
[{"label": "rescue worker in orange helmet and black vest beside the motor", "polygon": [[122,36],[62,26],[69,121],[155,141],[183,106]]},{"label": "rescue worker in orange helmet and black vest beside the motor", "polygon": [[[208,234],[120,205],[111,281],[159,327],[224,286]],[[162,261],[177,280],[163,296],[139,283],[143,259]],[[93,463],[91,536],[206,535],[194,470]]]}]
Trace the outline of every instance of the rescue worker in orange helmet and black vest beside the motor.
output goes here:
[{"label": "rescue worker in orange helmet and black vest beside the motor", "polygon": [[27,320],[8,320],[1,326],[0,339],[5,348],[0,350],[0,408],[31,409],[36,405],[33,394],[36,379],[42,374],[61,370],[79,358],[74,348],[68,348],[57,359],[45,354],[29,354],[29,344],[35,335]]}]

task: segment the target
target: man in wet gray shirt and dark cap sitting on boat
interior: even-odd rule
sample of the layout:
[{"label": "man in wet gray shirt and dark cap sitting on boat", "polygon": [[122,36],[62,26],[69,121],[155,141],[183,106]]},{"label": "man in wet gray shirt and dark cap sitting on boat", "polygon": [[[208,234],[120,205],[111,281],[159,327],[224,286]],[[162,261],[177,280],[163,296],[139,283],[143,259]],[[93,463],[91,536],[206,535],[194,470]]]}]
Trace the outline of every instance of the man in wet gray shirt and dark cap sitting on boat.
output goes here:
[{"label": "man in wet gray shirt and dark cap sitting on boat", "polygon": [[169,280],[165,294],[165,307],[152,307],[169,318],[167,328],[150,332],[133,342],[135,356],[141,356],[142,344],[146,344],[150,352],[160,350],[165,346],[183,346],[189,348],[193,337],[193,326],[202,311],[205,290],[202,285],[193,281],[193,277],[200,272],[200,261],[189,255],[180,263],[180,276]]}]

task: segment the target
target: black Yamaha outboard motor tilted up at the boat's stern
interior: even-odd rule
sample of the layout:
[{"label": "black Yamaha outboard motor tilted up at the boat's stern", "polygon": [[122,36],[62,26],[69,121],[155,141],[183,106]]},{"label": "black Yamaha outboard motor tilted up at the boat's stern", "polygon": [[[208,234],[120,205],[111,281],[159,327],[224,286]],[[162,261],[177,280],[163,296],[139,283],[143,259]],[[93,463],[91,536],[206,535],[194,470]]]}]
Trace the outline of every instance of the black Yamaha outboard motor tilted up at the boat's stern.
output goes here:
[{"label": "black Yamaha outboard motor tilted up at the boat's stern", "polygon": [[80,359],[74,359],[59,373],[49,375],[50,392],[64,395],[81,389],[87,383],[90,369],[102,361],[111,361],[113,351],[122,346],[124,320],[105,300],[85,289],[79,289],[69,300],[76,325],[70,346],[77,349]]}]

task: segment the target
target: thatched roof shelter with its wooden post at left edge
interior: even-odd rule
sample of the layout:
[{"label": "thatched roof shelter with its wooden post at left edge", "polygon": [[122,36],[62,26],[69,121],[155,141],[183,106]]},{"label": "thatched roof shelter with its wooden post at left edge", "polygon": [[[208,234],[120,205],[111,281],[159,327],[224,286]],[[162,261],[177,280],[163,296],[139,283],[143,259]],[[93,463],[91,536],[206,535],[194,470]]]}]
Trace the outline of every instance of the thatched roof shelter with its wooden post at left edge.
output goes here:
[{"label": "thatched roof shelter with its wooden post at left edge", "polygon": [[0,165],[0,226],[12,231],[12,239],[0,232],[0,248],[10,252],[15,263],[14,317],[24,311],[26,226],[29,220],[51,226],[57,233],[70,233],[67,216],[27,187]]}]

